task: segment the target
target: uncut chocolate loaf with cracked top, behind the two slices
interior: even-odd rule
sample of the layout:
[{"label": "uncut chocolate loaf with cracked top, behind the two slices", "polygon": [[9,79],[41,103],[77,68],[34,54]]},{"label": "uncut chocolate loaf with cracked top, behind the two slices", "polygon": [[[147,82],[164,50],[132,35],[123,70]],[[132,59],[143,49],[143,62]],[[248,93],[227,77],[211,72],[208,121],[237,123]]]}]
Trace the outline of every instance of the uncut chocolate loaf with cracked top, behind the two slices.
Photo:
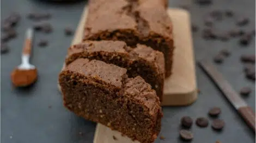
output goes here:
[{"label": "uncut chocolate loaf with cracked top, behind the two slices", "polygon": [[[107,11],[107,12],[106,12]],[[124,41],[128,46],[145,44],[164,54],[166,74],[173,59],[172,22],[163,0],[93,0],[84,28],[86,40]]]}]

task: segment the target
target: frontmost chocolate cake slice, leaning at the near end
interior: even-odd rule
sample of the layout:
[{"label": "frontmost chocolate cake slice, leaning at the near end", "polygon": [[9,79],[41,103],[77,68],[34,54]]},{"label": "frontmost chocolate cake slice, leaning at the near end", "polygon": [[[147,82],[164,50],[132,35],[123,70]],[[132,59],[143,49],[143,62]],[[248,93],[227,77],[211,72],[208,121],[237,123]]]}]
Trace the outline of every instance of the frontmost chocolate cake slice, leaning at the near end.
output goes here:
[{"label": "frontmost chocolate cake slice, leaning at the near end", "polygon": [[126,71],[102,61],[75,60],[59,74],[64,106],[132,140],[154,142],[161,129],[159,98],[142,77],[128,78]]}]

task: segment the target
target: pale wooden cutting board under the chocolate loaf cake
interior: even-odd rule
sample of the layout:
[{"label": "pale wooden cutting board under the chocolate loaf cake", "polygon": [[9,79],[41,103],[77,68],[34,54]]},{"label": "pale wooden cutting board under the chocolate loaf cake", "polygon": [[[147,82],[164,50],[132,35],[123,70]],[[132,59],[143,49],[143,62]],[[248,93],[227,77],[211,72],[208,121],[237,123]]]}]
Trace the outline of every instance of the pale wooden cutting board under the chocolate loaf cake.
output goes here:
[{"label": "pale wooden cutting board under the chocolate loaf cake", "polygon": [[[197,99],[196,73],[194,67],[193,43],[191,36],[190,14],[182,9],[168,9],[173,22],[174,34],[174,62],[172,76],[164,81],[164,95],[162,106],[190,105]],[[71,44],[80,43],[83,27],[86,22],[87,8],[84,8],[78,24],[74,40]],[[63,68],[65,64],[63,65]],[[59,87],[59,85],[58,85]],[[60,87],[59,87],[60,89]],[[118,140],[114,140],[113,136]],[[123,137],[120,132],[97,124],[94,143],[135,143],[130,138]]]}]

